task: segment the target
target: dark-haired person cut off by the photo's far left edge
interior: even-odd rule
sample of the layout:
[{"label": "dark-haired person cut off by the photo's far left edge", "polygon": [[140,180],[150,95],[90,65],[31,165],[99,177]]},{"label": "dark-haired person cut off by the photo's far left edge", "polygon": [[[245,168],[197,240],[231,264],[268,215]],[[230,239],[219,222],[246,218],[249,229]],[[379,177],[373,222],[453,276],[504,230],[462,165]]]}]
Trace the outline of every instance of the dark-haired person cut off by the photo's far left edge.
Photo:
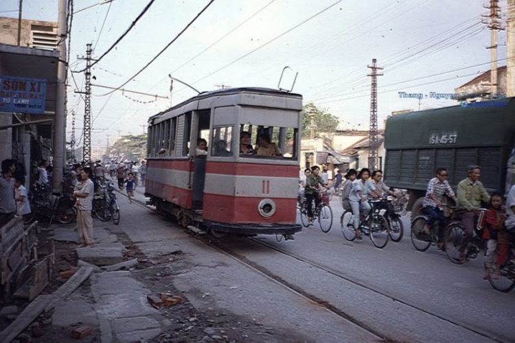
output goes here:
[{"label": "dark-haired person cut off by the photo's far left edge", "polygon": [[0,175],[0,227],[7,224],[16,214],[16,202],[14,202],[14,178],[16,171],[13,160],[2,161],[2,174]]}]

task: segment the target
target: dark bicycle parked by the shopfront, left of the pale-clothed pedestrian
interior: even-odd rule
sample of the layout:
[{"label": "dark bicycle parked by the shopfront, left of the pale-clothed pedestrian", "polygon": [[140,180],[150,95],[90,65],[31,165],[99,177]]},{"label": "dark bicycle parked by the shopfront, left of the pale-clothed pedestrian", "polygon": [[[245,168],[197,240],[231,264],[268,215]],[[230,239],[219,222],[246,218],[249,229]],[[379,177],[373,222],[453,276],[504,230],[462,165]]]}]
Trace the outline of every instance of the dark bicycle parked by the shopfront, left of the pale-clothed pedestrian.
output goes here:
[{"label": "dark bicycle parked by the shopfront, left of the pale-clothed pedestrian", "polygon": [[25,224],[30,224],[38,217],[47,217],[50,224],[56,219],[61,224],[69,224],[76,218],[75,201],[70,196],[52,192],[49,185],[35,182],[29,194],[31,213],[25,215]]}]

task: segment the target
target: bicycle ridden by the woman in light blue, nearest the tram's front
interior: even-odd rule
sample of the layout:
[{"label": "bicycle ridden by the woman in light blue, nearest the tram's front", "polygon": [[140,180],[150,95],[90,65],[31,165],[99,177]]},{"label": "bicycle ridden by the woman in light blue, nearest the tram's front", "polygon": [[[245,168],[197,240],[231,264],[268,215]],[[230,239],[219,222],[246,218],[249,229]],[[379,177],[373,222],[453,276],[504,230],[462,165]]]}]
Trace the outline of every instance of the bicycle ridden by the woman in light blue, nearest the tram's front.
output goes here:
[{"label": "bicycle ridden by the woman in light blue, nearest the tram's front", "polygon": [[[367,217],[362,220],[358,226],[361,235],[369,235],[372,244],[376,248],[385,248],[390,237],[390,227],[385,214],[387,210],[381,208],[382,200],[368,200],[371,210]],[[350,211],[345,211],[340,218],[341,232],[347,241],[356,239],[356,231],[354,228],[354,215]]]}]

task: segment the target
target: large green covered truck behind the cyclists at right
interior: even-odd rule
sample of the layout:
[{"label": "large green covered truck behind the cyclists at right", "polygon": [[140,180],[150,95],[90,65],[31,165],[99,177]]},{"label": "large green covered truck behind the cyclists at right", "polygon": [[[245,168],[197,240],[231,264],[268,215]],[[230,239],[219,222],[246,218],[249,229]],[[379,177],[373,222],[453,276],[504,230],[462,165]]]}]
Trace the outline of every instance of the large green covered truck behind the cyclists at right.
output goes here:
[{"label": "large green covered truck behind the cyclists at right", "polygon": [[456,190],[467,166],[479,165],[485,188],[506,193],[515,183],[515,97],[394,115],[385,150],[385,183],[407,189],[412,213],[439,167]]}]

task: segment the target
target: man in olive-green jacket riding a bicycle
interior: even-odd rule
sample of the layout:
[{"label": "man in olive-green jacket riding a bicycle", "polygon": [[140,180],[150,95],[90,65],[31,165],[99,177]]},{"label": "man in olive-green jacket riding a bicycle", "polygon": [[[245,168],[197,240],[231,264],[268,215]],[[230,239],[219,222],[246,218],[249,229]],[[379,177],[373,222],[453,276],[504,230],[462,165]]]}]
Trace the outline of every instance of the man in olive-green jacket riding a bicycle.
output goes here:
[{"label": "man in olive-green jacket riding a bicycle", "polygon": [[481,202],[489,202],[490,196],[483,184],[479,182],[481,167],[471,165],[467,168],[467,178],[458,184],[457,209],[460,212],[461,221],[465,226],[464,239],[459,246],[459,263],[465,263],[465,250],[472,240],[474,222],[479,216]]}]

